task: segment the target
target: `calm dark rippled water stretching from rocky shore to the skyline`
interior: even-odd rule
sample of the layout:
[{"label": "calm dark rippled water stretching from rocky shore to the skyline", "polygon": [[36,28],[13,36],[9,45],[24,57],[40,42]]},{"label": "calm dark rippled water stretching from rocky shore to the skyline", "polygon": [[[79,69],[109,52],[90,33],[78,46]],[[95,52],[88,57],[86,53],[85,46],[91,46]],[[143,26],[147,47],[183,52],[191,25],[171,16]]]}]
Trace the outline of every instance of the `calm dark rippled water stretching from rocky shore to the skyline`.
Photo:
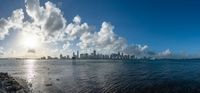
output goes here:
[{"label": "calm dark rippled water stretching from rocky shore to the skyline", "polygon": [[0,60],[33,93],[200,93],[200,61]]}]

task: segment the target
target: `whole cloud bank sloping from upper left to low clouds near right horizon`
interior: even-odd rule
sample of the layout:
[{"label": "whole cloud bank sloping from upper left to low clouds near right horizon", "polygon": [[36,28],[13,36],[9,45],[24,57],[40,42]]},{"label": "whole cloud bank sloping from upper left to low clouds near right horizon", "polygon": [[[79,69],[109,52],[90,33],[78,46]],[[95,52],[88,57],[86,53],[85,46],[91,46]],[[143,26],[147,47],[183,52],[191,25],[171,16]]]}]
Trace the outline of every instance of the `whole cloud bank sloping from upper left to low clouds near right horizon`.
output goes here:
[{"label": "whole cloud bank sloping from upper left to low clouds near right horizon", "polygon": [[[27,18],[24,12],[27,13]],[[25,11],[16,9],[10,17],[0,19],[0,40],[9,35],[10,29],[19,29],[22,32],[37,35],[40,41],[45,43],[59,43],[62,49],[53,50],[62,50],[62,52],[76,47],[80,50],[95,49],[102,53],[119,51],[138,57],[172,55],[169,49],[156,53],[150,50],[148,45],[128,45],[125,38],[114,32],[115,27],[109,22],[103,22],[101,28],[96,30],[88,23],[82,22],[79,15],[75,16],[72,21],[67,24],[62,11],[49,1],[42,6],[39,0],[25,0]],[[29,49],[25,52],[35,53],[36,51]]]}]

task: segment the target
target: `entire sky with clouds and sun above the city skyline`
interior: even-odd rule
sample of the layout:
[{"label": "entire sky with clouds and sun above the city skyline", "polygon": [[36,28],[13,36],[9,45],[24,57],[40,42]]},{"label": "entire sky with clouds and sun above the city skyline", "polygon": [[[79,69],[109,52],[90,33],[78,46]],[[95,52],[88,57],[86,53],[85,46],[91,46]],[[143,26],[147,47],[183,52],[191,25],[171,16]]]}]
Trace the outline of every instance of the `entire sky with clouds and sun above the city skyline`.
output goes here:
[{"label": "entire sky with clouds and sun above the city skyline", "polygon": [[[67,55],[76,50],[94,49],[153,57],[200,54],[198,0],[1,2],[0,54],[3,57]],[[20,51],[24,53],[16,55]]]}]

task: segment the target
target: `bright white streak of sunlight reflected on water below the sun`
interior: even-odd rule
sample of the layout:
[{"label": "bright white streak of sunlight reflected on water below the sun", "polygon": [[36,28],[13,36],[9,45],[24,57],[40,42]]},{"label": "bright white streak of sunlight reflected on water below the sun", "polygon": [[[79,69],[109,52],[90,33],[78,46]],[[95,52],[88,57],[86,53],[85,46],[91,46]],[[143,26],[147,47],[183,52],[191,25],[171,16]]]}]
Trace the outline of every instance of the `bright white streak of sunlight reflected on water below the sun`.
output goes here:
[{"label": "bright white streak of sunlight reflected on water below the sun", "polygon": [[36,60],[25,60],[26,77],[28,82],[32,82],[35,76],[35,62]]}]

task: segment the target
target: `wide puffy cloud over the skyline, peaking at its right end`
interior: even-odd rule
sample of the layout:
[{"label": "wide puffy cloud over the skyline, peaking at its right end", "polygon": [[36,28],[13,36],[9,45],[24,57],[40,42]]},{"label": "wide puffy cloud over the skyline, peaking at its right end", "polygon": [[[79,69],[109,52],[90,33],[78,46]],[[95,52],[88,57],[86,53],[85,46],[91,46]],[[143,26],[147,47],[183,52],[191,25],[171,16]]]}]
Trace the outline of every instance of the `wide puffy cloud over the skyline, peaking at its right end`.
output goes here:
[{"label": "wide puffy cloud over the skyline, peaking at its right end", "polygon": [[122,51],[126,47],[126,40],[117,36],[113,30],[114,26],[108,22],[103,22],[99,32],[83,33],[77,45],[81,49],[91,48],[108,53]]}]

